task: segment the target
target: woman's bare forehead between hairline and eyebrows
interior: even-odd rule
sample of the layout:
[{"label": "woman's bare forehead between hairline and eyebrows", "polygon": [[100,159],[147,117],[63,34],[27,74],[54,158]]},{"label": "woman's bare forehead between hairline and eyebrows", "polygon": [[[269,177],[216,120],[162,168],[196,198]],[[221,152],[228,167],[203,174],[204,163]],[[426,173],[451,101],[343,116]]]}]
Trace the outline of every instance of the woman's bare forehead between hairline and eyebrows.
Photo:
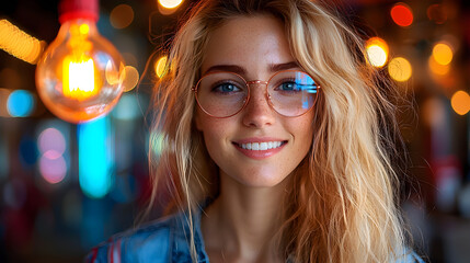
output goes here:
[{"label": "woman's bare forehead between hairline and eyebrows", "polygon": [[202,72],[217,65],[237,65],[251,71],[294,60],[279,20],[271,15],[237,16],[210,33]]}]

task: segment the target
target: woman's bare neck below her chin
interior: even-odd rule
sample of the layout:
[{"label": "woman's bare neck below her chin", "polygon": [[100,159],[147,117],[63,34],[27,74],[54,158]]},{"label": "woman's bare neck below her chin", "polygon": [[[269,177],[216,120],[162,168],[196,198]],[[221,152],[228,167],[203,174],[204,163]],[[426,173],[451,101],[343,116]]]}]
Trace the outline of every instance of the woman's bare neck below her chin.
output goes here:
[{"label": "woman's bare neck below her chin", "polygon": [[[220,195],[202,219],[211,262],[274,262],[274,235],[280,226],[287,180],[273,187],[250,187],[220,175]],[[216,258],[216,259],[214,259]]]}]

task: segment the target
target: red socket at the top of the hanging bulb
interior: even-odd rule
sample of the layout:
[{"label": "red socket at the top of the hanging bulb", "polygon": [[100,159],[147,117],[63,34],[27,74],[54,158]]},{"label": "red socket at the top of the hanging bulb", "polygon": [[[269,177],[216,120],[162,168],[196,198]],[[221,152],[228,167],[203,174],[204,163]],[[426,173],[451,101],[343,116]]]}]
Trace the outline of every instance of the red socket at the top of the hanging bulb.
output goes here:
[{"label": "red socket at the top of the hanging bulb", "polygon": [[98,21],[100,9],[98,0],[61,0],[59,3],[59,22],[85,19]]}]

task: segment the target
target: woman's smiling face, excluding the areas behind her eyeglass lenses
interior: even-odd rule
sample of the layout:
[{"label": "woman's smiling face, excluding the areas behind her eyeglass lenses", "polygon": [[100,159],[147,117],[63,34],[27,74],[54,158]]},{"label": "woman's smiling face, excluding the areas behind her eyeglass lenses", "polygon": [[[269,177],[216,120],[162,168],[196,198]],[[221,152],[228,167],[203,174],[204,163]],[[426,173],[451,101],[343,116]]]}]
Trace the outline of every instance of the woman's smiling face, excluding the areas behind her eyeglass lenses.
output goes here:
[{"label": "woman's smiling face, excluding the areas behind her eyeglass lenses", "polygon": [[[256,15],[231,19],[210,34],[202,73],[225,70],[247,81],[267,81],[284,69],[300,68],[290,54],[283,24],[272,16]],[[286,179],[308,153],[314,108],[285,117],[270,106],[266,85],[251,84],[250,89],[250,101],[237,115],[215,118],[197,107],[195,123],[221,176],[245,186],[270,187]],[[243,149],[247,146],[262,150]]]}]

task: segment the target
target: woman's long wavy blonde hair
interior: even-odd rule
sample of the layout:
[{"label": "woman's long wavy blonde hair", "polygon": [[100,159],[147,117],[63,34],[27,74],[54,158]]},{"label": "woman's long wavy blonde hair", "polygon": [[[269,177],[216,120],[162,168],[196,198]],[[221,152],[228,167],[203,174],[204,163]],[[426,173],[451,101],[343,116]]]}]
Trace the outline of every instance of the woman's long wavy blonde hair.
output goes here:
[{"label": "woman's long wavy blonde hair", "polygon": [[[168,73],[153,91],[150,150],[154,202],[172,195],[170,211],[195,209],[218,195],[218,172],[193,117],[191,88],[200,78],[211,32],[240,15],[271,14],[286,31],[294,58],[321,83],[311,151],[293,173],[278,251],[296,262],[393,262],[406,239],[393,170],[392,87],[365,60],[364,42],[326,4],[311,0],[204,0],[192,7],[169,52]],[[152,204],[151,204],[152,205]],[[151,205],[149,207],[151,207]],[[192,259],[197,262],[194,232]]]}]

